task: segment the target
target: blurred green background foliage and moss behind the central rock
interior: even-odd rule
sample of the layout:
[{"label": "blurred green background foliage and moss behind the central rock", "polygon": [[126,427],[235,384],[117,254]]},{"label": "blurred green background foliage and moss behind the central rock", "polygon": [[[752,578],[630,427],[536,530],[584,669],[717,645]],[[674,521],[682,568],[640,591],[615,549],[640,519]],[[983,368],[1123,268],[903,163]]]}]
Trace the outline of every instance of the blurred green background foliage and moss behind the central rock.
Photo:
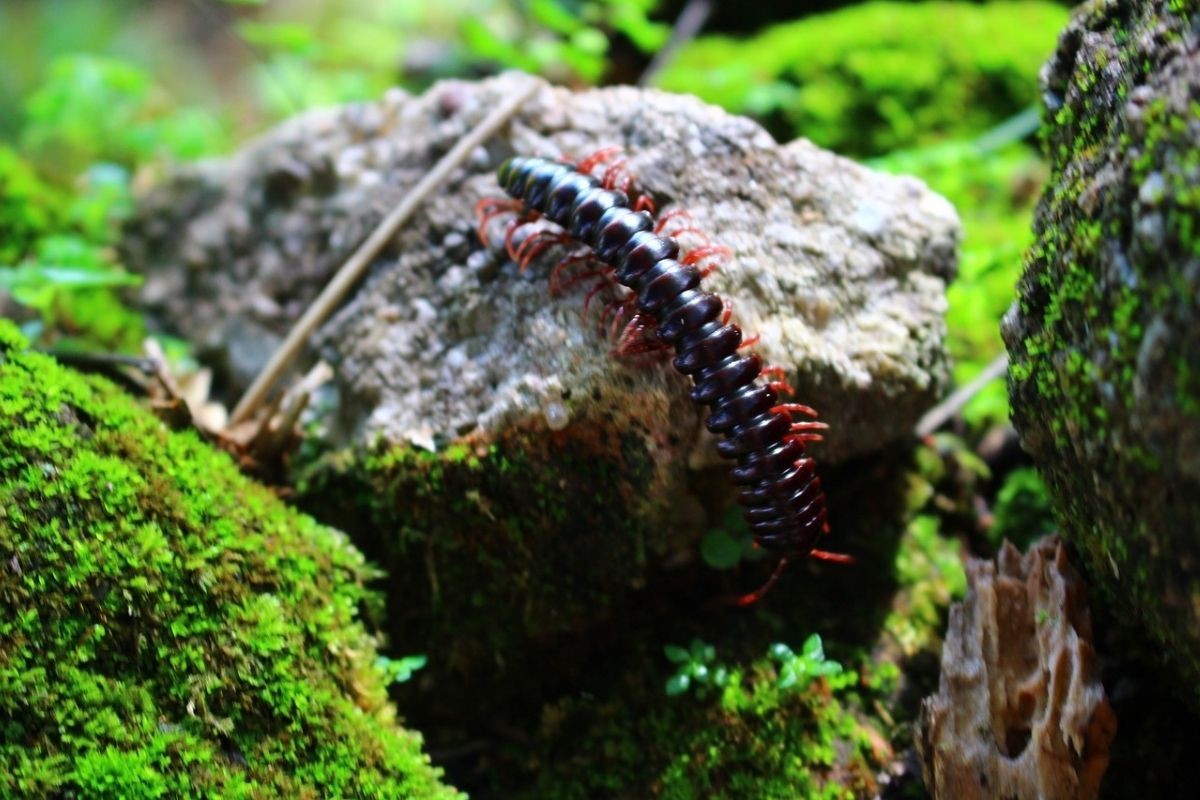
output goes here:
[{"label": "blurred green background foliage and moss behind the central rock", "polygon": [[[649,83],[914,174],[962,217],[949,347],[966,383],[1003,347],[1045,169],[1037,72],[1061,2],[712,0],[4,0],[0,313],[44,345],[136,350],[116,261],[140,186],[306,108],[503,68],[584,88]],[[647,73],[666,48],[662,68]],[[655,67],[660,66],[655,62]],[[964,409],[1007,421],[1002,379]],[[1028,489],[1028,477],[1021,477]]]}]

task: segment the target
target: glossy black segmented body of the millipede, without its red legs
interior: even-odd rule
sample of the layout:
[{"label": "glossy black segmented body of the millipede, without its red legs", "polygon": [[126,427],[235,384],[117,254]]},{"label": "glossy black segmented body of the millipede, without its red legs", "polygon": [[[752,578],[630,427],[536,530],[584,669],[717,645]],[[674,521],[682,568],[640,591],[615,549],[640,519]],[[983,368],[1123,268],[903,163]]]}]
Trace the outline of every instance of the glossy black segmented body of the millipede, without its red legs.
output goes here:
[{"label": "glossy black segmented body of the millipede, without its red legs", "polygon": [[812,552],[826,530],[824,494],[791,415],[761,379],[762,360],[739,353],[742,330],[722,321],[725,303],[700,288],[700,271],[677,260],[679,242],[654,233],[650,215],[572,164],[510,158],[499,169],[505,192],[587,245],[636,296],[674,367],[692,379],[691,398],[710,408],[706,426],[736,462],[738,499],[760,546],[785,557]]}]

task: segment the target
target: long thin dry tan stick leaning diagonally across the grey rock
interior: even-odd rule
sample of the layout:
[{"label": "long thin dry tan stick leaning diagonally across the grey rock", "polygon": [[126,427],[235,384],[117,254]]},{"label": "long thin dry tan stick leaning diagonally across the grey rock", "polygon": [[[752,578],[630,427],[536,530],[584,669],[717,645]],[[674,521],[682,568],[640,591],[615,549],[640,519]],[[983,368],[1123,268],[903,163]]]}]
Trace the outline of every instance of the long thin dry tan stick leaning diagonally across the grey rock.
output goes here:
[{"label": "long thin dry tan stick leaning diagonally across the grey rock", "polygon": [[334,308],[337,307],[337,303],[342,301],[354,284],[358,283],[359,278],[362,277],[367,265],[371,264],[371,259],[396,235],[396,230],[413,216],[413,212],[416,211],[425,198],[438,188],[454,169],[467,160],[472,150],[482,144],[502,125],[508,122],[540,85],[540,82],[530,79],[528,85],[523,86],[484,118],[479,125],[455,144],[450,152],[442,157],[433,169],[426,173],[416,187],[401,200],[400,205],[384,217],[379,227],[347,259],[346,264],[342,265],[334,278],[325,285],[320,295],[308,306],[304,315],[296,320],[292,330],[288,331],[287,338],[283,339],[283,343],[271,355],[271,360],[268,361],[263,371],[254,378],[254,383],[251,384],[246,393],[238,401],[238,407],[234,408],[233,416],[229,417],[229,425],[236,425],[246,420],[262,405],[271,386],[292,366],[292,362],[300,354],[301,348],[312,332],[325,321]]}]

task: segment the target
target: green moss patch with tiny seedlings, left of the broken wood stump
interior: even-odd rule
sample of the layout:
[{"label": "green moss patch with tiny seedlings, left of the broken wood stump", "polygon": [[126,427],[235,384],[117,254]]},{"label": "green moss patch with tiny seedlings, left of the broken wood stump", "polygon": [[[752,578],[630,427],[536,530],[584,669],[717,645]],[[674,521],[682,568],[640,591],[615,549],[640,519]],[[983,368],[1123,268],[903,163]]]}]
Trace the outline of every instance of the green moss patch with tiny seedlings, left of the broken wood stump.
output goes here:
[{"label": "green moss patch with tiny seedlings, left of the broken wood stump", "polygon": [[[856,798],[876,789],[854,673],[788,687],[770,657],[728,669],[704,698],[668,698],[666,660],[625,676],[619,698],[559,700],[542,714],[536,781],[518,798]],[[650,678],[653,676],[653,678]]]}]

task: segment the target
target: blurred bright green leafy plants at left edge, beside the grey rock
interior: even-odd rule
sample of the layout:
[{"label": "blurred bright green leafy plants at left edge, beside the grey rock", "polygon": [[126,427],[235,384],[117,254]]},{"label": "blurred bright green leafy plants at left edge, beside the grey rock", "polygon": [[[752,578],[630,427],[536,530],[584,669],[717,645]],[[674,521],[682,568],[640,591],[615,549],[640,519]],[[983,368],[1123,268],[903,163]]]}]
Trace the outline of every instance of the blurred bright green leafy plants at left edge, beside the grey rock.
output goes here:
[{"label": "blurred bright green leafy plants at left edge, beside the grey rock", "polygon": [[20,151],[0,145],[0,294],[32,312],[38,344],[139,348],[142,318],[118,290],[140,278],[115,253],[133,170],[223,149],[223,126],[138,66],[70,55],[25,102],[18,138]]}]

